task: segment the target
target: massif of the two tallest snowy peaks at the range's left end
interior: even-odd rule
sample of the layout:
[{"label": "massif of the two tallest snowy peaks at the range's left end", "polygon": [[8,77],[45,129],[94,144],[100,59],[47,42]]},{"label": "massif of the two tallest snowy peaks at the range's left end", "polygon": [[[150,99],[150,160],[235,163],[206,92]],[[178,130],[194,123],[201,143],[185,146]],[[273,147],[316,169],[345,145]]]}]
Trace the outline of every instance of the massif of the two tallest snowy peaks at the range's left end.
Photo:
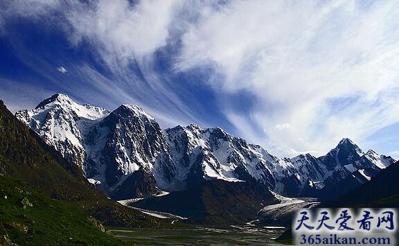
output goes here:
[{"label": "massif of the two tallest snowy peaks at the range's left end", "polygon": [[16,115],[110,197],[153,195],[159,192],[157,179],[163,184],[174,175],[161,128],[140,107],[122,105],[109,112],[56,94]]}]

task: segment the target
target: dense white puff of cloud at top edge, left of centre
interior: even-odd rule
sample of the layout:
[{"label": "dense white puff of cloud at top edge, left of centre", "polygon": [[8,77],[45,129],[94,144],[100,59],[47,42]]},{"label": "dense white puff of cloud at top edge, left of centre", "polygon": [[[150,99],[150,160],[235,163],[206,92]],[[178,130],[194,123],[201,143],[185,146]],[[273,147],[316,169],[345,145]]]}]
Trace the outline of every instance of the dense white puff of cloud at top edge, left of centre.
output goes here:
[{"label": "dense white puff of cloud at top edge, left of centre", "polygon": [[175,0],[76,3],[67,12],[74,42],[88,39],[109,63],[150,55],[166,45]]}]

